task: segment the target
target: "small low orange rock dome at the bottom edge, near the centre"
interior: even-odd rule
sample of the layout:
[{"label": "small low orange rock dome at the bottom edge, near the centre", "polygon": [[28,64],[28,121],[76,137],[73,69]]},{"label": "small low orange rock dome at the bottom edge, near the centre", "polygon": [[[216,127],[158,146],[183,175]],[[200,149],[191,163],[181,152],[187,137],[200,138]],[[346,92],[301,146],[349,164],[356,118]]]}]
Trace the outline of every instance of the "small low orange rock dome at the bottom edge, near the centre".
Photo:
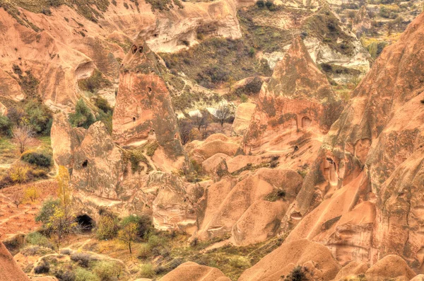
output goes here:
[{"label": "small low orange rock dome at the bottom edge, near the centre", "polygon": [[218,270],[206,265],[187,262],[179,265],[170,273],[162,277],[163,281],[230,281],[230,278]]}]

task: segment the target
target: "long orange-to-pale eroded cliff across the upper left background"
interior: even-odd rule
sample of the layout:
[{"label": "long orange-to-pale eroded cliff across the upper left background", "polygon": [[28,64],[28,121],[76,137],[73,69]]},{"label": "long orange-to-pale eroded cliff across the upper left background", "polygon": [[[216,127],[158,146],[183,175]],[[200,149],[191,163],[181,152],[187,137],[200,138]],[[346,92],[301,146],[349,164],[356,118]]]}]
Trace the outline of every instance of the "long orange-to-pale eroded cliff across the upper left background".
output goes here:
[{"label": "long orange-to-pale eroded cliff across the upper left background", "polygon": [[[112,82],[107,91],[114,93],[118,61],[139,34],[160,52],[186,48],[186,41],[196,44],[198,32],[209,37],[241,37],[232,1],[182,5],[184,8],[153,12],[145,1],[131,7],[124,1],[116,1],[116,5],[107,2],[102,8],[90,6],[88,13],[93,11],[94,16],[89,19],[74,6],[49,7],[52,14],[47,16],[41,13],[42,7],[8,2],[7,11],[0,11],[0,77],[4,82],[0,96],[14,101],[24,98],[26,93],[11,77],[18,79],[12,69],[16,64],[24,76],[25,71],[32,71],[40,82],[35,91],[50,108],[69,112],[81,95],[77,81],[90,77],[94,69]],[[101,94],[113,104],[113,95]]]}]

